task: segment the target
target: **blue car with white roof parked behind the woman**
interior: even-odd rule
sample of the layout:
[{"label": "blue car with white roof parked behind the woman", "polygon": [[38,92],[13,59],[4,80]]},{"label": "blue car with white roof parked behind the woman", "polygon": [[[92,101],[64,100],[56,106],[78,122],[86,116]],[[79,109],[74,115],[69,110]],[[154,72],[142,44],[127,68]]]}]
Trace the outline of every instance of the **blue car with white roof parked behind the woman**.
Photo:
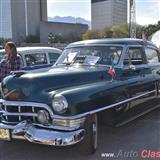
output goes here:
[{"label": "blue car with white roof parked behind the woman", "polygon": [[[45,71],[58,59],[61,50],[53,47],[17,47],[18,54],[23,60],[23,70]],[[4,57],[5,50],[0,50],[0,60]]]}]

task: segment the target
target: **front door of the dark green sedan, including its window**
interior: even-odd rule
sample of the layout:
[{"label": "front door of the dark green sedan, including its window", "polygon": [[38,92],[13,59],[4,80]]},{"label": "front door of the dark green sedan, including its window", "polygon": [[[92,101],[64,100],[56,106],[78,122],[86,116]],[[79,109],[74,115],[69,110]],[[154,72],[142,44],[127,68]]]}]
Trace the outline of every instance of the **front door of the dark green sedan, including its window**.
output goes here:
[{"label": "front door of the dark green sedan, including its window", "polygon": [[[149,109],[156,99],[156,81],[147,64],[143,47],[130,46],[124,58],[123,80],[129,94],[129,105],[120,119],[138,116]],[[127,114],[126,114],[127,113]]]}]

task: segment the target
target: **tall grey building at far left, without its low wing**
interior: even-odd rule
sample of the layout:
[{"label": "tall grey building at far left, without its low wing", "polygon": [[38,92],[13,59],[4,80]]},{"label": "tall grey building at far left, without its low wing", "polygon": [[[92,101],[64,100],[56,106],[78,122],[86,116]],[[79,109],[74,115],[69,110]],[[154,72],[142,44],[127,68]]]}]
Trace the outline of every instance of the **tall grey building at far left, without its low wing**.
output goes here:
[{"label": "tall grey building at far left, without its low wing", "polygon": [[21,42],[39,35],[40,21],[47,19],[47,0],[0,0],[0,37]]}]

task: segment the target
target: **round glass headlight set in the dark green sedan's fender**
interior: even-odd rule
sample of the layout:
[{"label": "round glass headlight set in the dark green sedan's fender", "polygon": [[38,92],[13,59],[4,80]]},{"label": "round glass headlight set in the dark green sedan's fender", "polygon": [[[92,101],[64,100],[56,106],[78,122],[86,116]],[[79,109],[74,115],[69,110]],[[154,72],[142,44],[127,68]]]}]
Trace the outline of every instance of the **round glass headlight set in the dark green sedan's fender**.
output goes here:
[{"label": "round glass headlight set in the dark green sedan's fender", "polygon": [[57,113],[65,113],[68,108],[68,102],[66,98],[62,95],[55,96],[52,101],[52,107]]}]

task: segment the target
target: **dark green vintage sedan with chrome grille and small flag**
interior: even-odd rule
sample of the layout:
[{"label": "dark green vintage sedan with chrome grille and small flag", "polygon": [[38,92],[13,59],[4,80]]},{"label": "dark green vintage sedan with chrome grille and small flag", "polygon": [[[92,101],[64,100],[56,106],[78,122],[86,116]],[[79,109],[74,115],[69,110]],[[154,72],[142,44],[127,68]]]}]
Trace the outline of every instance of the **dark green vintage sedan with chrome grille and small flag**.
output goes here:
[{"label": "dark green vintage sedan with chrome grille and small flag", "polygon": [[138,39],[76,42],[47,72],[11,73],[1,92],[1,139],[93,153],[98,122],[120,126],[160,106],[160,53]]}]

